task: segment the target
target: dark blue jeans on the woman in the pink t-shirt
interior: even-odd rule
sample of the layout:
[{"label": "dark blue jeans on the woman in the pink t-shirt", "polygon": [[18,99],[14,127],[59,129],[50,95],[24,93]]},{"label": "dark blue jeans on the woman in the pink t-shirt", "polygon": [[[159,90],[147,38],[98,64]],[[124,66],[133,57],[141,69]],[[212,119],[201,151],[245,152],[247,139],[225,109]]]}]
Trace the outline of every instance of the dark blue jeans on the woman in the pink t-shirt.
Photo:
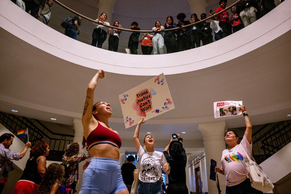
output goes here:
[{"label": "dark blue jeans on the woman in the pink t-shirt", "polygon": [[249,181],[249,179],[246,179],[235,186],[231,186],[231,187],[226,186],[225,193],[226,194],[263,194],[262,191],[254,189],[251,186],[251,182]]}]

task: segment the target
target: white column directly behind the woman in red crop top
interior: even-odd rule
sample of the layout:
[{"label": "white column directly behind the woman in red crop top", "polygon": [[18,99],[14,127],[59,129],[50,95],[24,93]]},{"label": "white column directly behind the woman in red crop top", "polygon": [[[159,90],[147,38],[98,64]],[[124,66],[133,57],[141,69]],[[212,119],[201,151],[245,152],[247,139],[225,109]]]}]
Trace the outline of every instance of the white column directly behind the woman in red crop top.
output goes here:
[{"label": "white column directly behind the woman in red crop top", "polygon": [[[75,129],[74,142],[78,142],[80,144],[83,141],[83,132],[84,132],[82,119],[74,118],[73,123],[74,123],[74,129]],[[87,152],[88,151],[86,150],[86,148],[80,149],[80,153],[87,153]],[[83,177],[83,172],[84,172],[83,165],[85,164],[86,161],[90,161],[90,158],[79,163],[79,184],[77,184],[76,186],[77,191],[79,191],[81,188],[82,177]]]}]

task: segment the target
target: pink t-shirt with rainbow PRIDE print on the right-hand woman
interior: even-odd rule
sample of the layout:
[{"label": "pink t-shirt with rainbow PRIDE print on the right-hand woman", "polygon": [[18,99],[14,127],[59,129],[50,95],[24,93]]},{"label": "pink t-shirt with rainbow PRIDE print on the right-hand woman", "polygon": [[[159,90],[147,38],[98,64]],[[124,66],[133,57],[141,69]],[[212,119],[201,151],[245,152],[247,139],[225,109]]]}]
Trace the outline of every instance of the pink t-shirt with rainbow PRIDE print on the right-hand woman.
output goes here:
[{"label": "pink t-shirt with rainbow PRIDE print on the right-hand woman", "polygon": [[246,180],[248,170],[243,159],[247,159],[247,157],[241,146],[243,146],[250,156],[253,145],[252,143],[249,144],[245,135],[239,145],[236,145],[232,149],[225,149],[222,152],[221,167],[224,170],[226,186],[235,186]]}]

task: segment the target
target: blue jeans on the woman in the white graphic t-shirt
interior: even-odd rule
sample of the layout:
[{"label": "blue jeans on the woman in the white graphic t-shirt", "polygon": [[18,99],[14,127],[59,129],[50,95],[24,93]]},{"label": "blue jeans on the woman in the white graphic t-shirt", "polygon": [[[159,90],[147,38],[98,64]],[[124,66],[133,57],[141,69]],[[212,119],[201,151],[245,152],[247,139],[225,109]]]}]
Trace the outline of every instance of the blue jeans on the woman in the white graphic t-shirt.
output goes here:
[{"label": "blue jeans on the woman in the white graphic t-shirt", "polygon": [[163,189],[160,181],[157,182],[142,182],[139,181],[136,194],[163,194]]}]

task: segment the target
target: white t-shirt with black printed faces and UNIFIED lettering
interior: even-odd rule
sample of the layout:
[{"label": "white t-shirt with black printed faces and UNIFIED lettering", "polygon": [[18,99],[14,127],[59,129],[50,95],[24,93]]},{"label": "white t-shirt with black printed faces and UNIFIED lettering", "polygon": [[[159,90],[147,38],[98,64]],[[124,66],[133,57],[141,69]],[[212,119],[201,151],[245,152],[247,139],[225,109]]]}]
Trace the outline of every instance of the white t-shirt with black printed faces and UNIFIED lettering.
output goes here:
[{"label": "white t-shirt with black printed faces and UNIFIED lettering", "polygon": [[167,160],[162,152],[146,152],[139,146],[137,153],[140,161],[139,180],[142,182],[157,182],[162,176],[162,169]]}]

